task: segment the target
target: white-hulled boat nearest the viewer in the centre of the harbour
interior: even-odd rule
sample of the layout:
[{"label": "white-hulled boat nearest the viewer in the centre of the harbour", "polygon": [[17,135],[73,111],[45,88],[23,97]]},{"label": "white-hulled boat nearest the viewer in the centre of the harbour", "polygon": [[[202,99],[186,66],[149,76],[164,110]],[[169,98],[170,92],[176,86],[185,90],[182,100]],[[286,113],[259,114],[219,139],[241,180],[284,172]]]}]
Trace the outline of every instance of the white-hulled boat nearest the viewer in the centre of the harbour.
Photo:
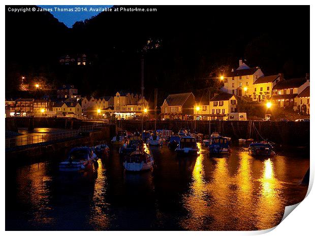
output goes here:
[{"label": "white-hulled boat nearest the viewer in the centre of the harbour", "polygon": [[126,171],[147,171],[152,166],[153,157],[144,151],[136,150],[124,157],[123,167]]}]

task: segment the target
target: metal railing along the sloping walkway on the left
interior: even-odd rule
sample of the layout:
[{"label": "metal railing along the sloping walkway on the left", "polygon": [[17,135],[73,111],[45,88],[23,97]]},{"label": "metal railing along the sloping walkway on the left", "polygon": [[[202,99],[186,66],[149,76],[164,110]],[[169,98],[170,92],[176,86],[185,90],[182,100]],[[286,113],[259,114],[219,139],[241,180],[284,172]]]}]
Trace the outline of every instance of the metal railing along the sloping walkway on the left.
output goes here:
[{"label": "metal railing along the sloping walkway on the left", "polygon": [[34,136],[6,139],[6,148],[75,138],[79,136],[80,132],[90,132],[102,128],[104,126],[105,124],[97,123],[93,125],[81,126],[78,130],[72,130],[67,132],[46,133]]}]

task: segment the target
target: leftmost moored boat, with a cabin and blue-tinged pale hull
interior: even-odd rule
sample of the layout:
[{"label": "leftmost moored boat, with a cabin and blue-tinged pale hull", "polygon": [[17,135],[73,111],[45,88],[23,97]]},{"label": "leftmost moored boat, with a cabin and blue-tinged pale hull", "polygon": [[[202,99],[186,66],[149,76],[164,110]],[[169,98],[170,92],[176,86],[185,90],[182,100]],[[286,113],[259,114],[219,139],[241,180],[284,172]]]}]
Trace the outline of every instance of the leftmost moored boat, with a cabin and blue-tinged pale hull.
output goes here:
[{"label": "leftmost moored boat, with a cabin and blue-tinged pale hull", "polygon": [[59,163],[59,171],[82,171],[87,165],[97,161],[97,155],[89,147],[77,147],[70,150],[65,161]]}]

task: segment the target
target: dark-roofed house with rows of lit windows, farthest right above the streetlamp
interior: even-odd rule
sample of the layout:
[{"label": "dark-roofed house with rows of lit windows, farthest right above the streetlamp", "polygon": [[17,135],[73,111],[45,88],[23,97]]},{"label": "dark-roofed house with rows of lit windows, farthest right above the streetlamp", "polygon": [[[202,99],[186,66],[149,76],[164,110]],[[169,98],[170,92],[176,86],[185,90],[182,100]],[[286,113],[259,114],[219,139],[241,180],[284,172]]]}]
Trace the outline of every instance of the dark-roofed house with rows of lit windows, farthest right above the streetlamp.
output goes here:
[{"label": "dark-roofed house with rows of lit windows, farthest right above the streetlamp", "polygon": [[297,110],[295,98],[307,86],[309,86],[309,77],[282,80],[273,87],[270,99],[276,102],[278,107]]}]

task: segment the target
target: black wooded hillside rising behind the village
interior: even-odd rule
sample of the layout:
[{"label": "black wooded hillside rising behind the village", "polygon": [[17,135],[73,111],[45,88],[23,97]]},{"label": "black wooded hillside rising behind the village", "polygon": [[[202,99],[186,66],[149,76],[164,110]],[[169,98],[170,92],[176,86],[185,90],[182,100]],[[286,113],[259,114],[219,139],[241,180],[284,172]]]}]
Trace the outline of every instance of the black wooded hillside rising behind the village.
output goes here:
[{"label": "black wooded hillside rising behind the village", "polygon": [[[83,95],[139,91],[142,55],[152,99],[155,87],[159,97],[202,89],[202,78],[235,68],[240,58],[266,75],[309,72],[309,6],[138,7],[157,11],[102,12],[73,28],[48,12],[6,11],[7,85],[41,73],[56,84],[77,85]],[[90,65],[58,64],[60,55],[83,52]]]}]

